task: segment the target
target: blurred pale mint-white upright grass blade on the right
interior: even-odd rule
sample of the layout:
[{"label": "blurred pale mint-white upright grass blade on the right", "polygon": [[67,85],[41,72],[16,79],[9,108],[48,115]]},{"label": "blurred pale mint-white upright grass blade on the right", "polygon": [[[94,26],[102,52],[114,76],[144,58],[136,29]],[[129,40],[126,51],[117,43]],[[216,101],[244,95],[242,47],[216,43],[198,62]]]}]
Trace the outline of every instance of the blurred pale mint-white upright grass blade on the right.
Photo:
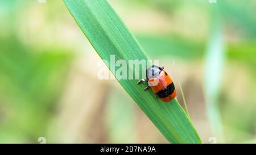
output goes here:
[{"label": "blurred pale mint-white upright grass blade on the right", "polygon": [[205,58],[205,101],[207,115],[212,133],[221,143],[224,142],[224,131],[218,108],[218,95],[225,66],[225,48],[222,35],[222,25],[218,8],[212,12],[212,32]]}]

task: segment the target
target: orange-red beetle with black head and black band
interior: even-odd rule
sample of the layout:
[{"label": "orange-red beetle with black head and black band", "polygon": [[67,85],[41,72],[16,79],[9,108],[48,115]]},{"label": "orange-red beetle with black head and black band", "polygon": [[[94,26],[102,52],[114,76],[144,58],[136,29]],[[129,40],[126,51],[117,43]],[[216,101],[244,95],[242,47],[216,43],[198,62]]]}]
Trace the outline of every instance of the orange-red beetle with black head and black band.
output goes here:
[{"label": "orange-red beetle with black head and black band", "polygon": [[169,102],[174,99],[177,95],[177,91],[174,86],[174,82],[167,74],[164,67],[152,65],[146,70],[146,79],[140,79],[138,85],[142,82],[147,83],[147,87],[144,87],[144,91],[152,89],[152,91],[162,100],[163,102]]}]

